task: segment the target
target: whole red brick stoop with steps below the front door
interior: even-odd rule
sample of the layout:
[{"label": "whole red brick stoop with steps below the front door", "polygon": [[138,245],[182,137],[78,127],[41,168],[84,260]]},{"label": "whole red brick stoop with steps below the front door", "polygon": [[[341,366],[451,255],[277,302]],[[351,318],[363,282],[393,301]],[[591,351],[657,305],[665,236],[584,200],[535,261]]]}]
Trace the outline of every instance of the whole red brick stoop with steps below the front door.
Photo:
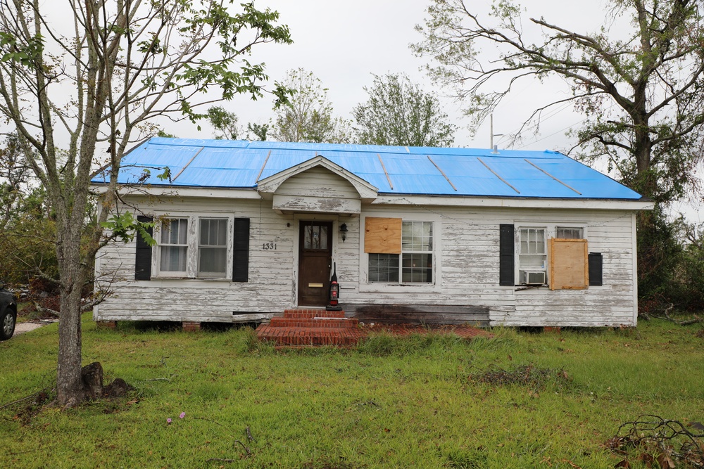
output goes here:
[{"label": "whole red brick stoop with steps below the front door", "polygon": [[286,309],[284,316],[260,324],[257,338],[277,345],[356,345],[364,333],[358,320],[345,318],[344,311]]}]

